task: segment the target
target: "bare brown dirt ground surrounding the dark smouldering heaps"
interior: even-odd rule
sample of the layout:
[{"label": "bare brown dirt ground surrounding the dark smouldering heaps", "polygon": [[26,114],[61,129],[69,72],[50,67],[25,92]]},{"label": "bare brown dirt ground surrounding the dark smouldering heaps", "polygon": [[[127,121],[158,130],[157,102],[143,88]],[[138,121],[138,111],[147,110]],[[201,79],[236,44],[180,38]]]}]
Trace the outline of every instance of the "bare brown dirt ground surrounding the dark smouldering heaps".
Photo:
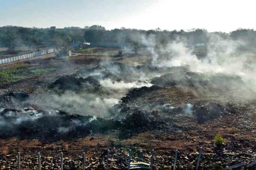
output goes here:
[{"label": "bare brown dirt ground surrounding the dark smouldering heaps", "polygon": [[[102,50],[99,50],[102,52]],[[105,52],[105,51],[103,51]],[[67,58],[40,58],[0,67],[3,70],[30,71],[23,75],[8,74],[13,78],[2,79],[0,94],[7,91],[22,91],[27,94],[44,93],[48,85],[63,75],[74,74],[81,68],[91,68],[99,62],[121,62],[137,65],[148,62],[145,55],[109,57],[105,55],[76,55]],[[49,69],[50,68],[50,69]],[[40,70],[34,72],[33,70]],[[7,74],[7,73],[6,73]],[[64,153],[65,169],[81,169],[81,156],[86,153],[87,169],[104,169],[106,150],[110,150],[110,169],[125,169],[128,150],[133,152],[132,161],[150,162],[151,149],[155,150],[154,169],[171,169],[174,150],[178,152],[178,170],[194,169],[198,149],[203,148],[201,169],[221,169],[241,162],[249,163],[256,158],[256,101],[232,97],[232,91],[169,85],[156,91],[149,91],[131,102],[144,106],[151,103],[184,107],[188,103],[207,105],[215,102],[224,105],[228,113],[216,119],[198,123],[189,115],[165,117],[162,127],[138,131],[130,136],[120,137],[119,130],[94,133],[88,136],[62,139],[22,139],[20,137],[0,139],[0,169],[15,169],[19,151],[21,169],[36,169],[36,155],[42,155],[44,169],[58,169],[59,153]],[[127,133],[131,133],[128,131]],[[214,144],[214,137],[225,139],[221,147]],[[255,167],[253,167],[255,168]]]}]

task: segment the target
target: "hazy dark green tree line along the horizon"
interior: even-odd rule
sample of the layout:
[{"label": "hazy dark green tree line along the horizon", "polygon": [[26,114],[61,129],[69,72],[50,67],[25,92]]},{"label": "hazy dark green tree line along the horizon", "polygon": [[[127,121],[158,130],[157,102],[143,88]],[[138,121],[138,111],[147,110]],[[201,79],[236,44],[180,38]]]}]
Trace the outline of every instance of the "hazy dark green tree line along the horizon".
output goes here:
[{"label": "hazy dark green tree line along the horizon", "polygon": [[154,40],[159,44],[166,44],[170,40],[185,38],[189,45],[195,43],[209,42],[209,34],[218,34],[223,39],[244,40],[248,45],[256,47],[256,31],[252,29],[238,29],[230,33],[214,32],[208,33],[204,29],[193,29],[191,31],[167,31],[160,30],[138,30],[138,29],[112,29],[106,30],[103,26],[93,25],[79,27],[66,27],[64,29],[50,28],[24,28],[18,26],[0,27],[0,47],[8,47],[13,51],[17,46],[46,45],[51,47],[68,48],[70,43],[76,39],[87,42],[119,42],[123,44],[138,45],[143,37]]}]

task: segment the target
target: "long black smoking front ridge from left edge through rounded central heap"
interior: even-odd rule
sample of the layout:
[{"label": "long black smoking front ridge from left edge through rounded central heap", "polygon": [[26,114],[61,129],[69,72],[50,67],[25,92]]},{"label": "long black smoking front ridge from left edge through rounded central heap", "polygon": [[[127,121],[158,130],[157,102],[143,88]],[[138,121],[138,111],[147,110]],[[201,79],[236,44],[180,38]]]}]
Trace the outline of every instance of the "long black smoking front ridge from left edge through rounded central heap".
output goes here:
[{"label": "long black smoking front ridge from left edge through rounded central heap", "polygon": [[[142,111],[127,115],[122,120],[55,111],[48,113],[32,109],[1,109],[0,138],[65,139],[106,133],[112,130],[141,130],[156,128],[158,120]],[[140,120],[138,122],[138,120]]]}]

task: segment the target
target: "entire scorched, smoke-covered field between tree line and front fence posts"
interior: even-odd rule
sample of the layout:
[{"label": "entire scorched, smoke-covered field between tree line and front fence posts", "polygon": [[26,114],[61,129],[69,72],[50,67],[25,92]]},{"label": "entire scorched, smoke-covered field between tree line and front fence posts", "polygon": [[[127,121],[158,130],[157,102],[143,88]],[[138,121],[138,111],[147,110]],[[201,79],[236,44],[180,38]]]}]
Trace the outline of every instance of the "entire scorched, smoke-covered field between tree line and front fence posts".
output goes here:
[{"label": "entire scorched, smoke-covered field between tree line and front fence posts", "polygon": [[253,161],[255,54],[239,47],[209,45],[198,57],[170,42],[122,57],[78,54],[1,68],[54,70],[1,84],[0,168],[14,169],[18,151],[23,169],[37,167],[38,152],[45,169],[58,169],[60,152],[65,169],[81,169],[82,152],[88,170],[104,169],[107,149],[110,169],[127,167],[129,149],[132,161],[144,162],[154,149],[155,169],[171,168],[175,149],[177,169],[194,169],[199,147],[201,169]]}]

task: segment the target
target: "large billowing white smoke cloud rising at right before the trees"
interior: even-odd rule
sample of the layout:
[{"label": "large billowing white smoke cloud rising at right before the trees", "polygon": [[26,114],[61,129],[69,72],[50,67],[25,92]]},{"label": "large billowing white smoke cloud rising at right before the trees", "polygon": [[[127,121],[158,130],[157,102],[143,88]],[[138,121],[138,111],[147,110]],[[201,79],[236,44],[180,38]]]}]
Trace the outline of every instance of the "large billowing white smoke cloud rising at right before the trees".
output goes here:
[{"label": "large billowing white smoke cloud rising at right before the trees", "polygon": [[206,33],[208,43],[205,57],[197,57],[194,48],[184,38],[169,40],[160,45],[154,36],[141,35],[140,40],[151,52],[151,65],[157,67],[185,66],[189,71],[205,74],[238,75],[253,91],[256,91],[255,50],[241,50],[248,44],[244,40],[232,40],[218,34]]}]

